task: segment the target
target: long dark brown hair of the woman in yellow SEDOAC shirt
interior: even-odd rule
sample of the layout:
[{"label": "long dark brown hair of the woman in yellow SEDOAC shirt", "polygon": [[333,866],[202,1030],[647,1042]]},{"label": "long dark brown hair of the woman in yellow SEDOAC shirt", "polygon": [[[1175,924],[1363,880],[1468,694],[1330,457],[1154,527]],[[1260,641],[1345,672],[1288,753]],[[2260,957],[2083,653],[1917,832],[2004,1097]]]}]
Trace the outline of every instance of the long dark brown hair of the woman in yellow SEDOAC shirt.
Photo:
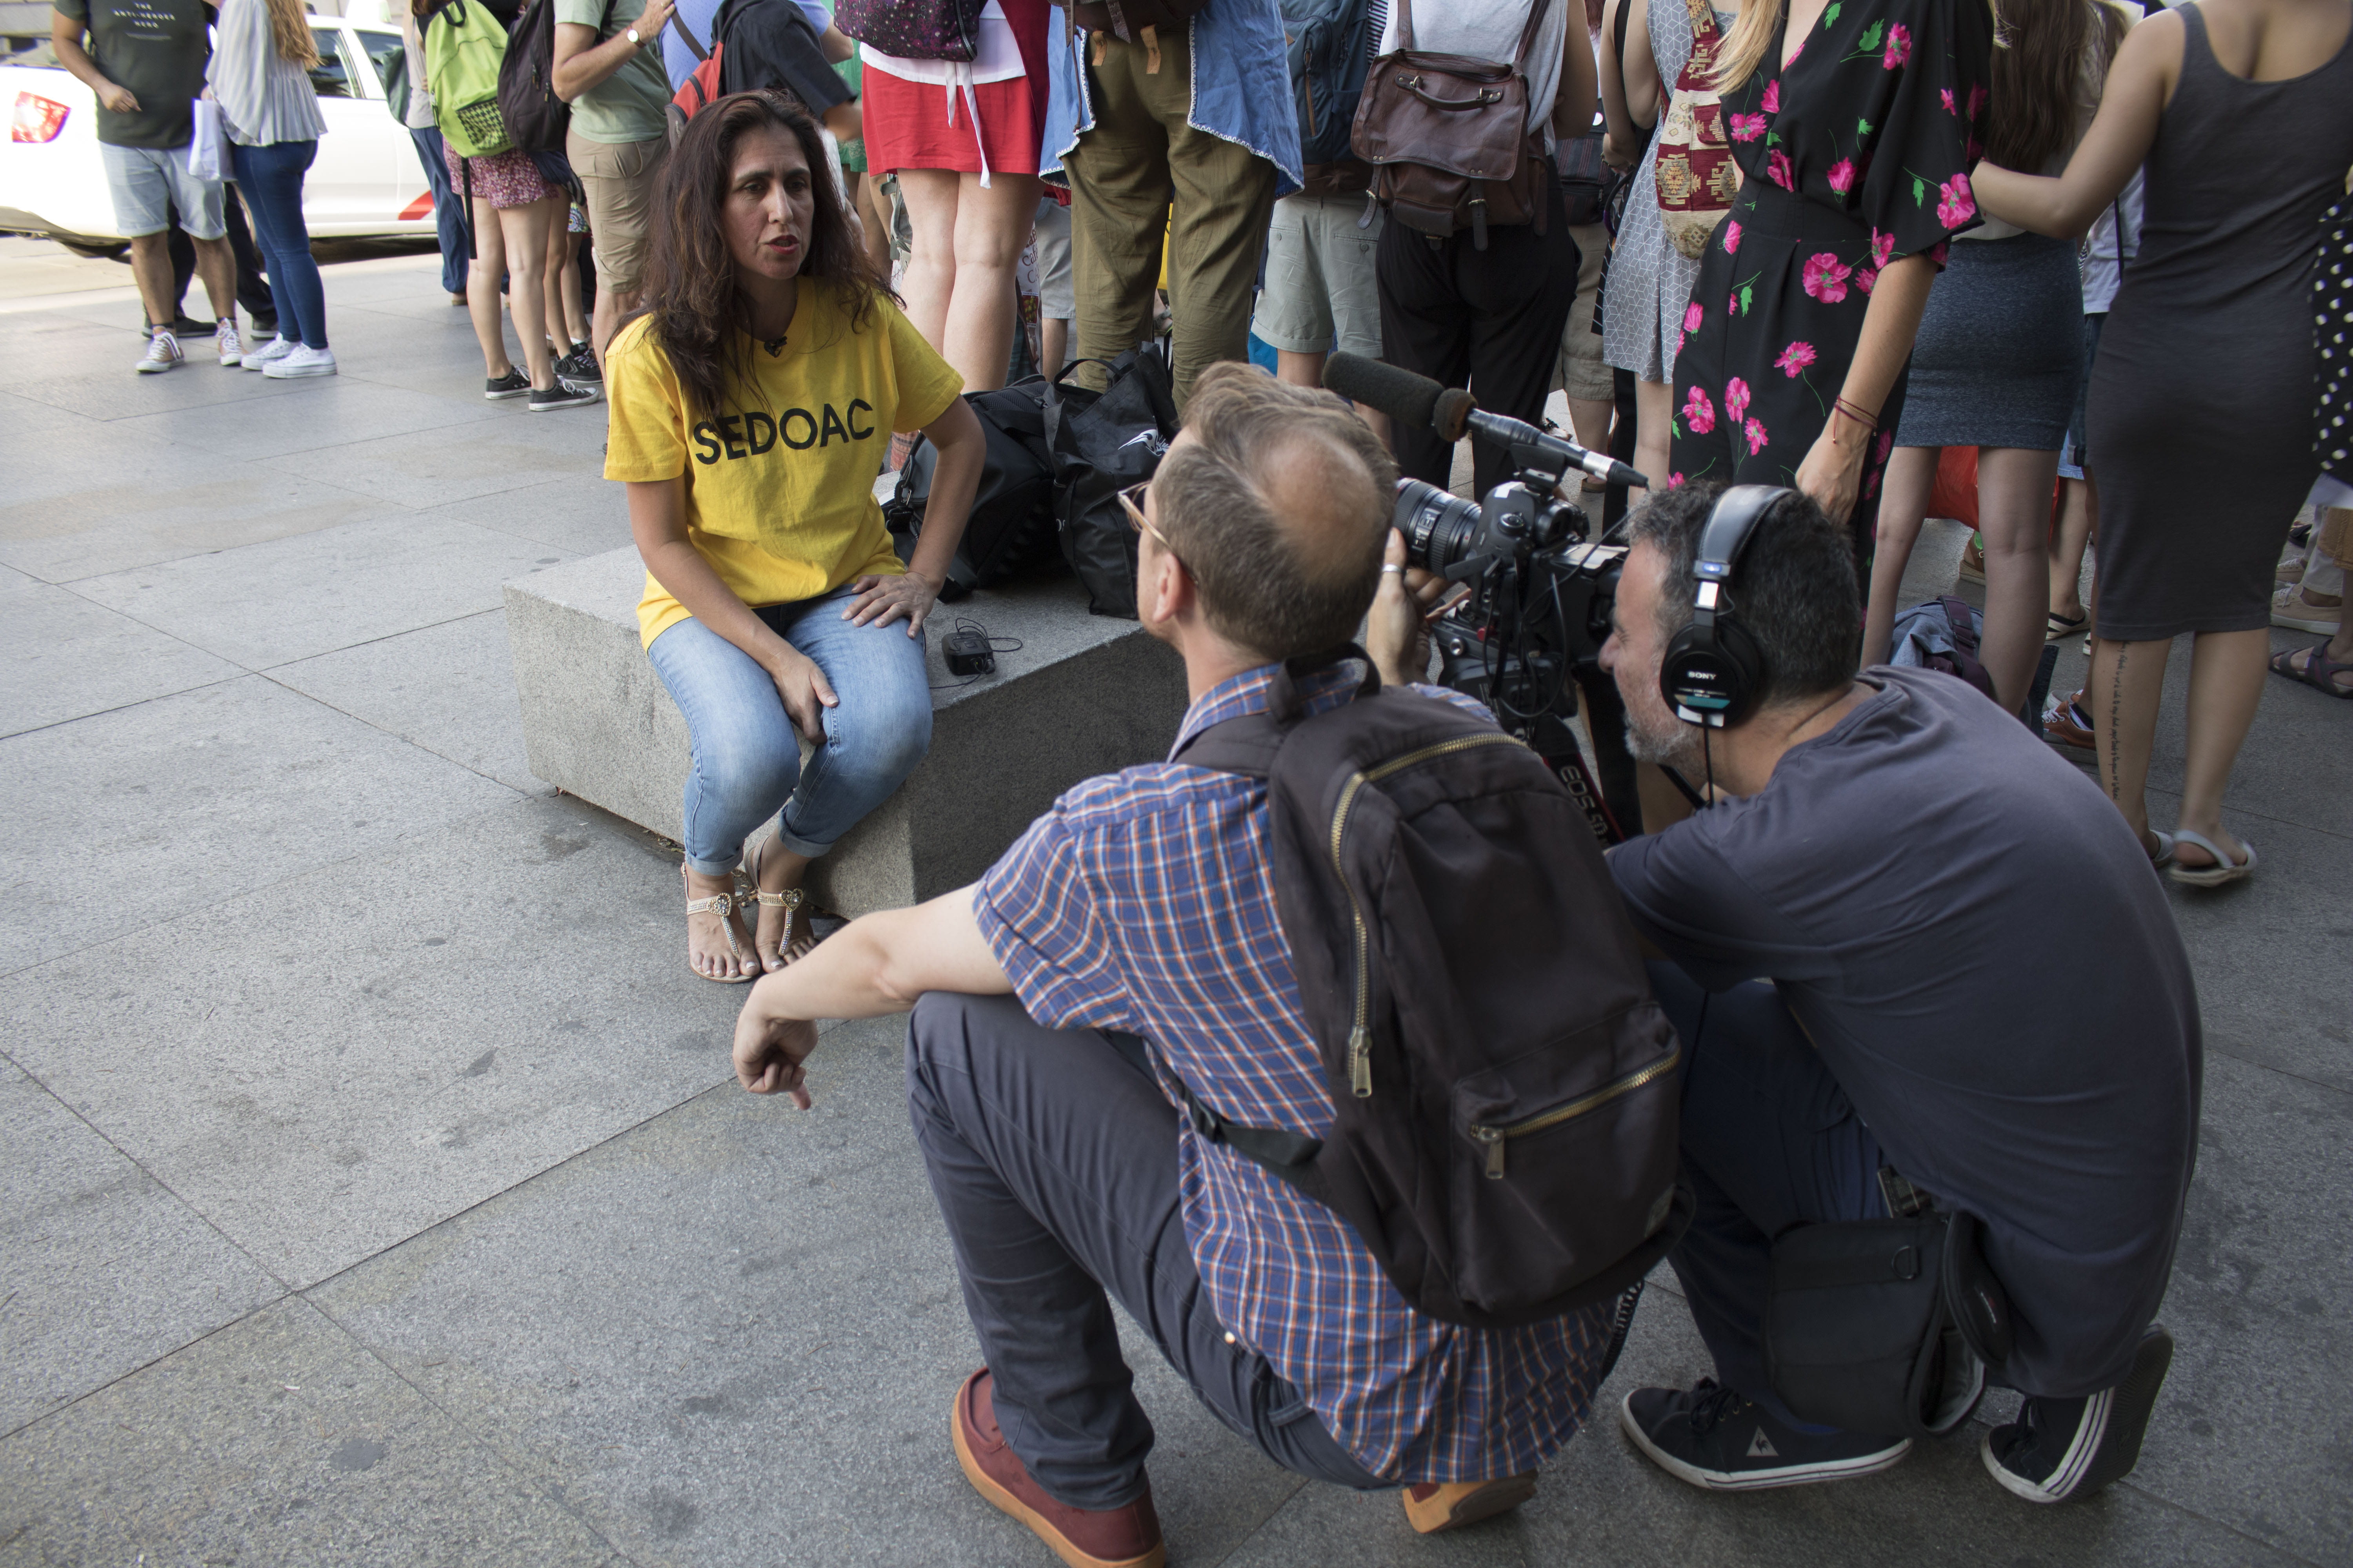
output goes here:
[{"label": "long dark brown hair of the woman in yellow SEDOAC shirt", "polygon": [[809,110],[774,89],[720,99],[687,120],[687,134],[661,167],[645,289],[645,315],[654,317],[647,331],[671,357],[692,411],[704,416],[715,416],[727,402],[729,381],[751,381],[751,339],[741,331],[748,327],[748,313],[736,287],[734,259],[727,254],[725,207],[734,179],[734,148],[758,129],[791,134],[800,143],[800,155],[809,160],[809,197],[816,212],[809,219],[800,275],[821,277],[840,289],[842,315],[849,317],[852,331],[866,327],[875,299],[896,299],[859,249],[849,209],[826,172],[826,143]]}]

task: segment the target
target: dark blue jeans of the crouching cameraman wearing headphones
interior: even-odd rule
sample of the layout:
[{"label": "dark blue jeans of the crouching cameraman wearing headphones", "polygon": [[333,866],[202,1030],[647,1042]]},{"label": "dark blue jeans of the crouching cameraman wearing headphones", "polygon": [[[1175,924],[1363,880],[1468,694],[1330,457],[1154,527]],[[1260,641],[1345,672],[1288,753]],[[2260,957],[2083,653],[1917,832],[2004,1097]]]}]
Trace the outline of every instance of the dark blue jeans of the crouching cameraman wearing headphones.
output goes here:
[{"label": "dark blue jeans of the crouching cameraman wearing headphones", "polygon": [[1715,1380],[1819,1432],[1765,1380],[1772,1239],[1800,1222],[1885,1220],[1880,1140],[1772,985],[1708,994],[1666,961],[1649,985],[1682,1037],[1682,1171],[1699,1197],[1668,1262]]}]

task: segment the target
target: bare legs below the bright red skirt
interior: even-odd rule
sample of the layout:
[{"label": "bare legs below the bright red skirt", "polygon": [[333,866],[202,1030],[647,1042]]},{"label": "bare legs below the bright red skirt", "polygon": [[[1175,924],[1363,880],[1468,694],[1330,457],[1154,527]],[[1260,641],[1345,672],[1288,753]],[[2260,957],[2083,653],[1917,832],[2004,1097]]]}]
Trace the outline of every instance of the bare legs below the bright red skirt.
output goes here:
[{"label": "bare legs below the bright red skirt", "polygon": [[899,169],[915,252],[906,263],[906,315],[965,378],[965,390],[1005,386],[1014,353],[1014,263],[1038,216],[1035,174]]}]

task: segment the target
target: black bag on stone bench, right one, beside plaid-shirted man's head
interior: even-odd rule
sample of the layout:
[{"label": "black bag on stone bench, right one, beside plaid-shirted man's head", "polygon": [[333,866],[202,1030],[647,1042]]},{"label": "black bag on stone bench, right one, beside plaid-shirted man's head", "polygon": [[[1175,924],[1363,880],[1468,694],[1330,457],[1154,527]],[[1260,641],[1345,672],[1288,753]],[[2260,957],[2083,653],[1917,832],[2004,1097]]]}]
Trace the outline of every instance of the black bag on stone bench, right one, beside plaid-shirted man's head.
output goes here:
[{"label": "black bag on stone bench, right one, beside plaid-shirted man's head", "polygon": [[[1080,364],[1104,364],[1101,393],[1071,386]],[[1087,585],[1096,616],[1136,618],[1136,531],[1120,491],[1151,480],[1176,437],[1167,343],[1139,343],[1108,364],[1078,360],[1045,393],[1045,440],[1054,454],[1054,517],[1061,555]]]}]

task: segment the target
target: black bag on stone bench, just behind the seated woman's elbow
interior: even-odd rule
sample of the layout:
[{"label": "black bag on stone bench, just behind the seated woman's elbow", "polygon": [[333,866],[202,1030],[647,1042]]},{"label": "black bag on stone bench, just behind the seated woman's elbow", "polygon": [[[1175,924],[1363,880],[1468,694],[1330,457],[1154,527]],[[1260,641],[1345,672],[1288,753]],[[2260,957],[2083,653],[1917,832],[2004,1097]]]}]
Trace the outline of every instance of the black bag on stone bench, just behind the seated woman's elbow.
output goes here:
[{"label": "black bag on stone bench, just behind the seated woman's elbow", "polygon": [[[960,599],[974,588],[998,583],[1040,564],[1059,567],[1054,557],[1054,458],[1045,442],[1045,393],[1040,376],[1014,381],[988,393],[965,393],[988,458],[981,484],[972,494],[972,517],[948,562],[946,599]],[[899,468],[899,489],[882,505],[899,559],[913,559],[922,512],[932,498],[932,470],[939,449],[918,437]]]}]

